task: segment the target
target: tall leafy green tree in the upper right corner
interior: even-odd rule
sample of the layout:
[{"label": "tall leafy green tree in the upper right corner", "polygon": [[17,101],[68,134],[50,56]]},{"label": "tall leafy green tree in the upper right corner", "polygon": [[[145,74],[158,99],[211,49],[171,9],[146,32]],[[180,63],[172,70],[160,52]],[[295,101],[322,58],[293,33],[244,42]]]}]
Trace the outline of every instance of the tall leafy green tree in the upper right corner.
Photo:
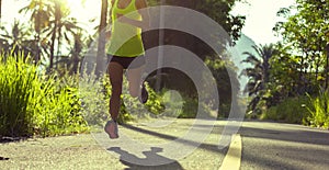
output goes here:
[{"label": "tall leafy green tree in the upper right corner", "polygon": [[298,64],[298,94],[311,92],[314,82],[328,88],[328,1],[296,0],[296,5],[277,12],[287,21],[279,22],[274,31],[283,36],[283,47]]}]

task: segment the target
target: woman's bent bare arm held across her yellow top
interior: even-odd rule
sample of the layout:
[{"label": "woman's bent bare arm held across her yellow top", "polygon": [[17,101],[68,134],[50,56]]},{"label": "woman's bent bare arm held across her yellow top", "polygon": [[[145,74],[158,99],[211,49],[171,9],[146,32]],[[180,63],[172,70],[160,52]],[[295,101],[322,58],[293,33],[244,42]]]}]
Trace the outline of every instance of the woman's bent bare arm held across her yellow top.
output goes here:
[{"label": "woman's bent bare arm held across her yellow top", "polygon": [[126,18],[122,14],[117,15],[118,21],[135,25],[143,30],[148,29],[149,27],[149,13],[147,10],[146,0],[136,0],[135,5],[138,10],[138,13],[141,15],[141,21],[133,20],[133,19]]}]

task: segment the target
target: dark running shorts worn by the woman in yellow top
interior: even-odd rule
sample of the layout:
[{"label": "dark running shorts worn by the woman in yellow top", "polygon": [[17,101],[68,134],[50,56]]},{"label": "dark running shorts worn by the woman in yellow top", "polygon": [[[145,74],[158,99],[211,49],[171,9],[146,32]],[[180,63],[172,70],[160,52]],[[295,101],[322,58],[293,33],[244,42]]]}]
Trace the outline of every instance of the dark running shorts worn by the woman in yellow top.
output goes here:
[{"label": "dark running shorts worn by the woman in yellow top", "polygon": [[134,69],[139,68],[145,65],[145,57],[138,56],[138,57],[120,57],[120,56],[112,56],[107,55],[109,59],[111,58],[110,63],[117,63],[120,64],[124,69]]}]

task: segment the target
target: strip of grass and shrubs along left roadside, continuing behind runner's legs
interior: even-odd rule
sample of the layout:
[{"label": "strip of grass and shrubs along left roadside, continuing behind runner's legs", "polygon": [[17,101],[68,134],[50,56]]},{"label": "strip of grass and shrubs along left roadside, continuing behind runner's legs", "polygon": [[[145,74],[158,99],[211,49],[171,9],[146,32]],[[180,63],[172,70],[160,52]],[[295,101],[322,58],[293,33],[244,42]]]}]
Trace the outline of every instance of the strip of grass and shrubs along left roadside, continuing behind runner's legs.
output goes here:
[{"label": "strip of grass and shrubs along left roadside, continuing behind runner's legs", "polygon": [[[47,71],[27,55],[0,54],[0,138],[57,136],[89,133],[109,120],[109,77],[93,73]],[[124,82],[127,89],[127,83]],[[146,84],[148,102],[143,105],[129,94],[122,98],[120,123],[144,117],[195,117],[197,101],[172,100],[168,90],[156,92]],[[175,98],[175,97],[174,97]]]}]

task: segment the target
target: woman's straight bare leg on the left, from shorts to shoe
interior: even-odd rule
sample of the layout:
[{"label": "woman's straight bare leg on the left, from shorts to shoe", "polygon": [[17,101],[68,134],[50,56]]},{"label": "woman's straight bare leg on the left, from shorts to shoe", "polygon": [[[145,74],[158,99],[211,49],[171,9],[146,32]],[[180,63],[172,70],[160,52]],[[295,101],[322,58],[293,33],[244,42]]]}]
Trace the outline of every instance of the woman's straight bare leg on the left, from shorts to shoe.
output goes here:
[{"label": "woman's straight bare leg on the left, from shorts to shoe", "polygon": [[116,122],[121,106],[123,67],[117,63],[110,63],[109,75],[112,86],[112,94],[110,99],[110,114],[113,121]]}]

